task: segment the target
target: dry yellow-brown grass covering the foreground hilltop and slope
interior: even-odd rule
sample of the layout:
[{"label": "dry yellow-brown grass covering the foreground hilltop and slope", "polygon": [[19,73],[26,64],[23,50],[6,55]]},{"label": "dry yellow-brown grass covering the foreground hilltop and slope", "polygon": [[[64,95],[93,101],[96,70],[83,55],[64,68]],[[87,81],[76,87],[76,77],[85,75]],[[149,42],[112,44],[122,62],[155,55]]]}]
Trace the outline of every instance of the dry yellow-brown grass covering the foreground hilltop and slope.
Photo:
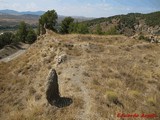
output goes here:
[{"label": "dry yellow-brown grass covering the foreground hilltop and slope", "polygon": [[[57,65],[57,57],[66,61]],[[48,72],[59,75],[65,108],[48,105]],[[117,113],[160,119],[160,45],[124,36],[41,36],[25,54],[0,63],[1,120],[116,120]],[[142,118],[137,118],[137,120]],[[132,118],[130,118],[132,120]]]}]

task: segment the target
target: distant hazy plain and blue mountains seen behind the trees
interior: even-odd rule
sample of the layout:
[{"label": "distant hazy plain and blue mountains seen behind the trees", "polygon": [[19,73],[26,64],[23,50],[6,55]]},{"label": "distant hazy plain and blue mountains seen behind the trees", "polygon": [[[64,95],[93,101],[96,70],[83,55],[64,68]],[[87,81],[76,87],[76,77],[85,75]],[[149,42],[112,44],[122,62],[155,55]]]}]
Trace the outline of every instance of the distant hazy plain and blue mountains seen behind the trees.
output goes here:
[{"label": "distant hazy plain and blue mountains seen behind the trees", "polygon": [[[15,28],[19,25],[19,22],[25,21],[26,23],[37,26],[38,20],[40,15],[44,14],[45,11],[25,11],[25,12],[18,12],[15,10],[0,10],[0,30],[6,28]],[[58,15],[58,23],[67,16]],[[81,16],[74,16],[75,21],[86,21],[91,20],[92,18],[81,17]]]}]

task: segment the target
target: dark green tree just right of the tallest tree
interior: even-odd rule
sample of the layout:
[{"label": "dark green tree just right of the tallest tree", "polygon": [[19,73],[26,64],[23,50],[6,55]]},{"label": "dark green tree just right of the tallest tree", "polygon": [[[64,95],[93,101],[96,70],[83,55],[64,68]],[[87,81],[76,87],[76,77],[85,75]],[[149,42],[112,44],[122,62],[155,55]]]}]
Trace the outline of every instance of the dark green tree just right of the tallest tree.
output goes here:
[{"label": "dark green tree just right of the tallest tree", "polygon": [[71,30],[70,27],[71,24],[73,24],[74,19],[72,17],[66,17],[61,24],[61,33],[62,34],[68,34]]}]

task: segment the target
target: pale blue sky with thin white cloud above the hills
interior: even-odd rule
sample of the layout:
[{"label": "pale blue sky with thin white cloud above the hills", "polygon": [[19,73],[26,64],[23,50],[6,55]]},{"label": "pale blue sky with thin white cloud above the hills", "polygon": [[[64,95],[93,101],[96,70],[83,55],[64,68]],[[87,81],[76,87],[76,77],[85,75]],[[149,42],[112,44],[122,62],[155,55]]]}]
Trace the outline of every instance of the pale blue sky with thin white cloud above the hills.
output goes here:
[{"label": "pale blue sky with thin white cloud above the hills", "polygon": [[109,17],[127,13],[160,11],[160,0],[0,0],[0,10],[47,11],[59,15]]}]

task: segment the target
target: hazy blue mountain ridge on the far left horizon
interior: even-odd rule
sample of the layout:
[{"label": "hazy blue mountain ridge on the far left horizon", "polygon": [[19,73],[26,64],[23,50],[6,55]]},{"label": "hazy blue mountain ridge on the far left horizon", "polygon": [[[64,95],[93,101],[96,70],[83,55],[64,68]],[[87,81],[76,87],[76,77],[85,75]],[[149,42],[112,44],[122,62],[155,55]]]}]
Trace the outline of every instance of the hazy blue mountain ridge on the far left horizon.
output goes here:
[{"label": "hazy blue mountain ridge on the far left horizon", "polygon": [[0,10],[0,13],[1,13],[1,14],[9,14],[9,15],[26,15],[26,14],[42,15],[42,14],[45,13],[45,11],[35,11],[35,12],[25,11],[25,12],[18,12],[18,11],[15,11],[15,10],[6,9],[6,10]]}]

